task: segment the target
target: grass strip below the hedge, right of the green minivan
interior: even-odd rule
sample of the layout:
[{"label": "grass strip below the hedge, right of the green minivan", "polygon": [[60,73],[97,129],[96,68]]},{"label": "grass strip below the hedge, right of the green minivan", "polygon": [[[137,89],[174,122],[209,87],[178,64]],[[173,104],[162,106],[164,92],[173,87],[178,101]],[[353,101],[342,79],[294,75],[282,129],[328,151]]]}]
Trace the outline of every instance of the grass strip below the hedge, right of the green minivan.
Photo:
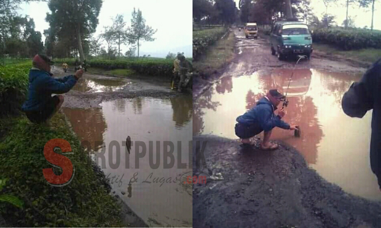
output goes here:
[{"label": "grass strip below the hedge, right of the green minivan", "polygon": [[331,55],[342,55],[350,59],[360,60],[367,63],[374,63],[381,57],[381,49],[364,48],[359,50],[343,51],[329,44],[313,43],[314,49],[323,51]]}]

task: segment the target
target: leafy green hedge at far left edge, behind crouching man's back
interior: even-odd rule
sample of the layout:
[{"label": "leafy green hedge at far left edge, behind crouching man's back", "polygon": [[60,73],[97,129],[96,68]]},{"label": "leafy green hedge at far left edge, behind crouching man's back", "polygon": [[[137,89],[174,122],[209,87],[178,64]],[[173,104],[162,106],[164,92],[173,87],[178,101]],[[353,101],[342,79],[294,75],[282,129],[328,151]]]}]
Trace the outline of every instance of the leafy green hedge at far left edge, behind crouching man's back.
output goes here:
[{"label": "leafy green hedge at far left edge, behind crouching man's back", "polygon": [[28,89],[32,61],[0,66],[0,116],[19,114]]}]

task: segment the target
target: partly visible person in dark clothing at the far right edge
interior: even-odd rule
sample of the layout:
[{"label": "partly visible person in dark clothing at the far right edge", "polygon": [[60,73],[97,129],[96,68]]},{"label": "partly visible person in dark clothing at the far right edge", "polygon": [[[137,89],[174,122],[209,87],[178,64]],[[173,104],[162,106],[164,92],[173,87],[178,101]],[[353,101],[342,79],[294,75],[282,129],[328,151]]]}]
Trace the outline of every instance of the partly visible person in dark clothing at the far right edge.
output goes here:
[{"label": "partly visible person in dark clothing at the far right edge", "polygon": [[381,59],[365,72],[359,82],[344,93],[341,105],[350,117],[362,118],[373,109],[370,138],[370,166],[381,191]]}]

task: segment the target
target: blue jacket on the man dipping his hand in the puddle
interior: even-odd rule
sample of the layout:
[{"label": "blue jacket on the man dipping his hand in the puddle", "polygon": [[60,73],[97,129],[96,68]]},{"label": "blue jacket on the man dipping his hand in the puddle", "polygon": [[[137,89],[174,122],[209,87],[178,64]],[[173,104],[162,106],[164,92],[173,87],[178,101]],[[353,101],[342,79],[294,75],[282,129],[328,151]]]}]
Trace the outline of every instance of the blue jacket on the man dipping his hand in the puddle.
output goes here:
[{"label": "blue jacket on the man dipping his hand in the puddle", "polygon": [[237,117],[237,122],[251,125],[253,123],[259,123],[259,126],[264,131],[269,131],[274,127],[280,127],[283,129],[290,129],[290,125],[280,119],[279,116],[275,116],[274,111],[276,108],[272,103],[267,100],[266,97],[261,98],[257,102],[257,105],[247,111],[242,116]]}]

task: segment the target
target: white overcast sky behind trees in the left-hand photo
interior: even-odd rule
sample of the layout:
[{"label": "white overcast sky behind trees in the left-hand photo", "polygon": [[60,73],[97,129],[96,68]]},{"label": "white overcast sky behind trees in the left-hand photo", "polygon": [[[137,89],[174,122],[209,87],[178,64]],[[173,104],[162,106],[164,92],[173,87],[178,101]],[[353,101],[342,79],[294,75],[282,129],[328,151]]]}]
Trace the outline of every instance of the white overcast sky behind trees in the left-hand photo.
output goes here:
[{"label": "white overcast sky behind trees in the left-hand photo", "polygon": [[[24,3],[20,7],[20,14],[34,19],[35,30],[41,32],[42,41],[45,42],[43,30],[49,28],[45,21],[46,13],[50,12],[48,3]],[[192,0],[103,0],[95,35],[102,33],[104,26],[112,25],[111,18],[117,14],[123,14],[126,26],[131,25],[134,7],[142,11],[146,25],[157,29],[155,41],[139,42],[140,55],[165,57],[168,52],[184,52],[186,57],[192,57]],[[120,49],[122,53],[128,51],[125,45]]]}]

